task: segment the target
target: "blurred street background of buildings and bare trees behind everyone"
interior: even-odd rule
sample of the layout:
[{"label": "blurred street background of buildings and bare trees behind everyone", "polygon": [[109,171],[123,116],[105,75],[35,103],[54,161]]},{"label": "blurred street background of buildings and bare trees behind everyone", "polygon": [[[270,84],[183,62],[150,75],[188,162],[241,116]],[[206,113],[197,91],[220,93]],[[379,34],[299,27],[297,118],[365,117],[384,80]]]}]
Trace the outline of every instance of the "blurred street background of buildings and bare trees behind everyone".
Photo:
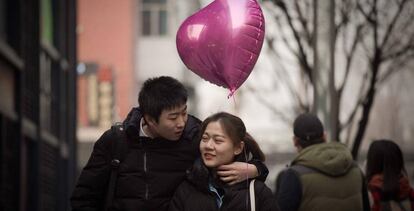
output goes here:
[{"label": "blurred street background of buildings and bare trees behind everyone", "polygon": [[394,140],[414,180],[413,1],[259,1],[265,43],[230,99],[176,50],[182,21],[210,2],[0,0],[0,210],[69,210],[94,142],[160,75],[185,84],[200,119],[224,110],[244,120],[271,188],[306,111],[362,168],[372,140]]}]

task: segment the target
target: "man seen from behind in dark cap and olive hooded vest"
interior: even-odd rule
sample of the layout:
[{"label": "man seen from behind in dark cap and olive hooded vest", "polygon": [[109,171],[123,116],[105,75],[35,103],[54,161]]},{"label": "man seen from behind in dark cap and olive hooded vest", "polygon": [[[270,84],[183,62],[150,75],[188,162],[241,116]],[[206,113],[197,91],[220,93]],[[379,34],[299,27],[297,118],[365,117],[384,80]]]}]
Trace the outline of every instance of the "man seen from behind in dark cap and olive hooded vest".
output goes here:
[{"label": "man seen from behind in dark cap and olive hooded vest", "polygon": [[322,123],[313,114],[298,116],[293,133],[299,154],[277,178],[280,210],[369,210],[364,177],[348,148],[326,143]]}]

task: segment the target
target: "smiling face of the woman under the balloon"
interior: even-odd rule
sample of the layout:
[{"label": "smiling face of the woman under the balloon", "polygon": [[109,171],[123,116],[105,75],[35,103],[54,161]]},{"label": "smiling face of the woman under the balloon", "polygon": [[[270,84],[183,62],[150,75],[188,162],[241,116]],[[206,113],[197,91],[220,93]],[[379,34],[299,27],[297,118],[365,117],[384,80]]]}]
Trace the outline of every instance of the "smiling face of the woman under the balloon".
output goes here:
[{"label": "smiling face of the woman under the balloon", "polygon": [[234,145],[220,122],[210,122],[207,125],[201,138],[200,152],[208,168],[216,168],[233,162],[234,157],[241,151],[242,147]]}]

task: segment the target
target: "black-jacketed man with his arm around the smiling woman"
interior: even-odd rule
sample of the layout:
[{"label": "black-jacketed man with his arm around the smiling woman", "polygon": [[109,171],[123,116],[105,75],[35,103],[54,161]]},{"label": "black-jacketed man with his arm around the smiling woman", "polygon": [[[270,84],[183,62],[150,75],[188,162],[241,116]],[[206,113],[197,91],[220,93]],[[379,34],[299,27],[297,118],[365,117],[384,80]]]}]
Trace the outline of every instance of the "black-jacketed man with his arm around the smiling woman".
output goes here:
[{"label": "black-jacketed man with his arm around the smiling woman", "polygon": [[[171,77],[148,79],[138,102],[140,107],[133,108],[118,129],[125,135],[111,129],[95,143],[71,197],[73,210],[167,210],[186,170],[199,155],[200,121],[187,114],[187,91]],[[108,206],[112,148],[120,141],[126,143],[126,150]],[[254,163],[247,169],[244,163],[222,166],[219,173],[230,184],[244,180],[246,174],[264,180],[267,168]]]}]

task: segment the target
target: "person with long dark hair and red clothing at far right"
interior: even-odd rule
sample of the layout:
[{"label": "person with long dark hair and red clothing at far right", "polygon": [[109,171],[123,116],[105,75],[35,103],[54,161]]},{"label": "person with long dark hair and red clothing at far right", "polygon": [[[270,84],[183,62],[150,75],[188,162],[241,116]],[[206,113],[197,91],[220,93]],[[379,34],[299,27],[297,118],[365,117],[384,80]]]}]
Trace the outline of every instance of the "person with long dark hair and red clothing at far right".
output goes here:
[{"label": "person with long dark hair and red clothing at far right", "polygon": [[372,211],[414,211],[414,191],[410,187],[400,147],[390,140],[371,143],[366,165]]}]

